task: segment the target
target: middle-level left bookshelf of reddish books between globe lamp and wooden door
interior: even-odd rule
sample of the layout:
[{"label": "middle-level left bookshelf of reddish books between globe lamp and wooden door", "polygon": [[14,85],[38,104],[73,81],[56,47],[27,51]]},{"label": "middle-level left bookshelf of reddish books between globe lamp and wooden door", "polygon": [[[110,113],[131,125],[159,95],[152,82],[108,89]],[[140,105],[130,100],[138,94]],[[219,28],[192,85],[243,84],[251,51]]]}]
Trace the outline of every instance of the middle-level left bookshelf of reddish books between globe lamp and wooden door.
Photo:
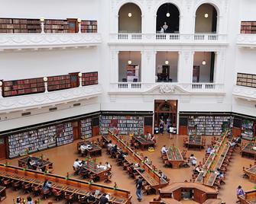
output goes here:
[{"label": "middle-level left bookshelf of reddish books between globe lamp and wooden door", "polygon": [[48,91],[71,88],[70,75],[48,77]]}]

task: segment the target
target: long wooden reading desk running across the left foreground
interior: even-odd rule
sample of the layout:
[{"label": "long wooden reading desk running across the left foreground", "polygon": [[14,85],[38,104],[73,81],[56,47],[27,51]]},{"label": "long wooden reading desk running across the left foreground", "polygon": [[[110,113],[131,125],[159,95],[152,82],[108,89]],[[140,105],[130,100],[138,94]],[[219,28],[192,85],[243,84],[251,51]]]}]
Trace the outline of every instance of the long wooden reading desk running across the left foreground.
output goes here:
[{"label": "long wooden reading desk running across the left foreground", "polygon": [[110,202],[115,204],[131,203],[131,193],[128,190],[113,189],[113,186],[105,186],[97,183],[88,183],[84,180],[66,178],[56,174],[44,174],[39,171],[24,171],[21,167],[14,167],[0,164],[0,178],[29,183],[35,186],[42,186],[44,180],[52,182],[53,188],[63,193],[74,193],[75,196],[88,196],[92,191],[99,190],[100,193],[110,193]]}]

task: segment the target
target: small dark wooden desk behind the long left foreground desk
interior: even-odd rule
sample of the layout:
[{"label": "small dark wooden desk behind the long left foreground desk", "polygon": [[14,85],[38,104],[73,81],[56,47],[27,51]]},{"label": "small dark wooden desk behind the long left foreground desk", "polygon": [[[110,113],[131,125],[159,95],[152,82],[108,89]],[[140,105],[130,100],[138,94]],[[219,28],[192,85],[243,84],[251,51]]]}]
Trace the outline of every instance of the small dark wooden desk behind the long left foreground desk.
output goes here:
[{"label": "small dark wooden desk behind the long left foreground desk", "polygon": [[28,167],[28,158],[31,158],[32,161],[34,161],[35,167],[41,167],[41,169],[44,171],[45,170],[51,170],[53,171],[53,162],[50,162],[48,160],[44,160],[41,158],[36,158],[34,156],[27,156],[25,158],[21,158],[18,160],[18,166],[19,167]]}]

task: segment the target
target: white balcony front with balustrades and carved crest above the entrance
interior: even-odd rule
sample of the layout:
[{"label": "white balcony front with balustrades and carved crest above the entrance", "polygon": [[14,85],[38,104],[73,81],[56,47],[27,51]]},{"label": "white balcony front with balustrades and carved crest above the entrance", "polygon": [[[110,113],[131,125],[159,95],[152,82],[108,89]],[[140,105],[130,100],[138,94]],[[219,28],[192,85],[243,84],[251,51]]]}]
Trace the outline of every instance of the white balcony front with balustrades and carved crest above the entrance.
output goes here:
[{"label": "white balcony front with balustrades and carved crest above the entrance", "polygon": [[225,94],[224,84],[216,83],[112,83],[109,94]]}]

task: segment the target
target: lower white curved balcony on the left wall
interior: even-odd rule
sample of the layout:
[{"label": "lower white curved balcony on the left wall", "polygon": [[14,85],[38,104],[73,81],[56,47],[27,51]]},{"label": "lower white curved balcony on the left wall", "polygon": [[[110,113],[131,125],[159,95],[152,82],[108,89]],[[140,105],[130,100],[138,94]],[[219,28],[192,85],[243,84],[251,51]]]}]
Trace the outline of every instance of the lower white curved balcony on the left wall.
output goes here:
[{"label": "lower white curved balcony on the left wall", "polygon": [[63,89],[60,91],[44,92],[41,94],[0,97],[0,113],[63,104],[71,101],[97,97],[100,94],[102,94],[100,85],[89,85],[79,88]]}]

